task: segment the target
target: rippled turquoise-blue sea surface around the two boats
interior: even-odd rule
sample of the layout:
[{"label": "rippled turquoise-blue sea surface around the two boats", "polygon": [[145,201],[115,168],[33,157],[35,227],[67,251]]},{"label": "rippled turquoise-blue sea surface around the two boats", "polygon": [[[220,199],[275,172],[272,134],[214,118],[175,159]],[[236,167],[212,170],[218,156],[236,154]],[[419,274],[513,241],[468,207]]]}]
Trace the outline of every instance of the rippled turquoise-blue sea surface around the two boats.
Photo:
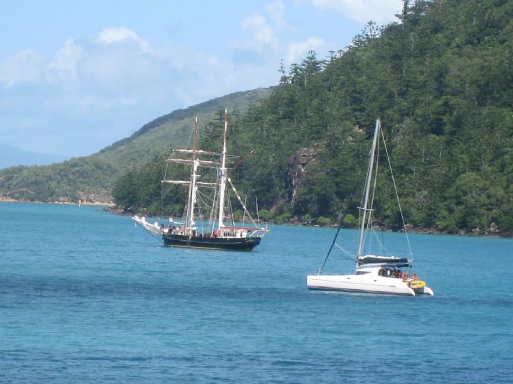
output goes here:
[{"label": "rippled turquoise-blue sea surface around the two boats", "polygon": [[[513,382],[512,239],[410,235],[435,296],[406,298],[308,291],[336,230],[270,229],[166,248],[101,207],[0,203],[0,383]],[[336,249],[324,273],[354,271]]]}]

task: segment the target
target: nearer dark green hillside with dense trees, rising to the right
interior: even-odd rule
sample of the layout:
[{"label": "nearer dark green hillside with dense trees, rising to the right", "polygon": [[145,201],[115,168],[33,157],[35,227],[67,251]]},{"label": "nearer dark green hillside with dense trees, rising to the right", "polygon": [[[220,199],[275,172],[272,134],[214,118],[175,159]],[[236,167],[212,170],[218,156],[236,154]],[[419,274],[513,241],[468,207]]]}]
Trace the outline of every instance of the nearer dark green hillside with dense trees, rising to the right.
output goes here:
[{"label": "nearer dark green hillside with dense trees, rising to the right", "polygon": [[[230,152],[253,151],[234,171],[238,187],[258,196],[263,217],[334,223],[342,213],[352,225],[379,117],[407,223],[511,232],[513,2],[410,1],[399,20],[367,24],[329,60],[311,52],[270,98],[232,116]],[[220,126],[207,125],[204,149]],[[177,210],[175,193],[161,206],[157,163],[119,180],[119,205]],[[376,225],[399,227],[392,185],[380,183]]]}]

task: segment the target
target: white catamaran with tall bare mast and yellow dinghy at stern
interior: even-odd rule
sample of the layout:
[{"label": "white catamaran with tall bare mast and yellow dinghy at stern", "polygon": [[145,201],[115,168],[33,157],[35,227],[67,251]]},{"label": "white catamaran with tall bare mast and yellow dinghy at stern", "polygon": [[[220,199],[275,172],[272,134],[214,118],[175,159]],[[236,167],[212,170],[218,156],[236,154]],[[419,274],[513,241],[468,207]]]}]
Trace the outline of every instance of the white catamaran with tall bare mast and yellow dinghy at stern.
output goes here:
[{"label": "white catamaran with tall bare mast and yellow dinghy at stern", "polygon": [[[372,148],[369,154],[369,167],[367,170],[367,179],[365,182],[365,196],[363,199],[363,207],[360,209],[360,234],[358,237],[358,248],[356,252],[356,271],[351,275],[322,275],[322,268],[326,264],[329,254],[335,245],[338,232],[338,228],[333,244],[329,249],[328,255],[324,259],[324,264],[317,275],[308,275],[306,277],[306,286],[311,290],[320,291],[347,291],[347,292],[358,292],[358,293],[384,293],[388,295],[418,295],[426,294],[433,295],[433,290],[426,286],[426,282],[417,279],[417,274],[410,273],[412,267],[412,259],[406,257],[396,256],[376,256],[376,255],[365,255],[365,241],[367,232],[372,231],[372,203],[374,199],[369,199],[369,192],[371,184],[376,188],[376,179],[372,179],[372,172],[375,167],[377,171],[377,156],[376,163],[374,162],[375,154],[378,150],[376,143],[379,143],[379,136],[383,138],[383,144],[385,143],[383,131],[381,130],[380,120],[376,120],[376,127],[374,129],[374,138],[372,140]],[[387,152],[388,158],[388,151]],[[388,158],[388,164],[390,166],[390,158]],[[392,172],[392,167],[390,167]],[[376,177],[376,176],[374,176]],[[392,181],[393,181],[392,175]],[[395,181],[394,181],[395,188]],[[374,191],[372,193],[374,196]],[[399,203],[399,196],[397,195],[397,201]],[[399,210],[401,210],[401,204],[399,203]],[[401,218],[403,213],[401,211]],[[408,248],[410,243],[408,240],[408,233],[406,232],[406,226],[403,219],[403,228],[408,241]],[[412,255],[410,249],[410,256]]]}]

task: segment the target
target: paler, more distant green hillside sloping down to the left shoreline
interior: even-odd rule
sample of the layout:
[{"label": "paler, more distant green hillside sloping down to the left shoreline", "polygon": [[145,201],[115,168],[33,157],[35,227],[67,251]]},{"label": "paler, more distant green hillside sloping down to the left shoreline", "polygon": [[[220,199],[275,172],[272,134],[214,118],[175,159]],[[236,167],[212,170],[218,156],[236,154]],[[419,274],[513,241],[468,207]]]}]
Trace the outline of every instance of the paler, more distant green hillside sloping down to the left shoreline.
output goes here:
[{"label": "paler, more distant green hillside sloping down to the left shoreline", "polygon": [[138,169],[157,154],[189,140],[195,116],[210,119],[219,107],[245,111],[269,93],[269,89],[237,92],[173,111],[91,156],[47,166],[0,170],[0,199],[110,203],[114,183],[124,172]]}]

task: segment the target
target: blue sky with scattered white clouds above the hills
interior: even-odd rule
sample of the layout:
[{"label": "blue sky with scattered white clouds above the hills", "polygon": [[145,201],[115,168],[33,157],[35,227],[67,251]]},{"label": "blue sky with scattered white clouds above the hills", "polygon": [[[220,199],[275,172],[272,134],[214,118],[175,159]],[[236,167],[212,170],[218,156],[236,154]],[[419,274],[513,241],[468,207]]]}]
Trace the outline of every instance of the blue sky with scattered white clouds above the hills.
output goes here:
[{"label": "blue sky with scattered white clouds above the hills", "polygon": [[87,156],[149,122],[276,85],[401,0],[0,0],[0,143]]}]

